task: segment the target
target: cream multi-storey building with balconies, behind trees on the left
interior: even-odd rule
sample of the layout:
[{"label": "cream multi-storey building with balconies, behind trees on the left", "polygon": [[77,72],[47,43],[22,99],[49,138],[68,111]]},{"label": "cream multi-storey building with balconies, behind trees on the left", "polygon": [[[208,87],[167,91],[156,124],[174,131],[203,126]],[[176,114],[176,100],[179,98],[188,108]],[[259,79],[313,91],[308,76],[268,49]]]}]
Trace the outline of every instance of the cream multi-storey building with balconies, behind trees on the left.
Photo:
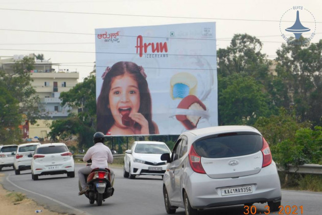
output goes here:
[{"label": "cream multi-storey building with balconies, behind trees on the left", "polygon": [[[5,57],[5,59],[4,59]],[[17,60],[24,58],[24,55],[1,56],[0,69],[10,73],[12,66]],[[35,59],[34,54],[29,54],[29,57]],[[70,112],[77,113],[77,108],[70,106],[61,106],[59,99],[61,92],[66,92],[72,89],[78,81],[79,73],[67,70],[53,69],[53,66],[58,66],[49,60],[35,60],[34,70],[31,71],[32,87],[36,90],[36,94],[40,98],[38,106],[42,115],[45,117],[38,120],[35,125],[29,126],[29,137],[47,138],[52,120],[66,118]],[[38,125],[38,126],[37,126]]]}]

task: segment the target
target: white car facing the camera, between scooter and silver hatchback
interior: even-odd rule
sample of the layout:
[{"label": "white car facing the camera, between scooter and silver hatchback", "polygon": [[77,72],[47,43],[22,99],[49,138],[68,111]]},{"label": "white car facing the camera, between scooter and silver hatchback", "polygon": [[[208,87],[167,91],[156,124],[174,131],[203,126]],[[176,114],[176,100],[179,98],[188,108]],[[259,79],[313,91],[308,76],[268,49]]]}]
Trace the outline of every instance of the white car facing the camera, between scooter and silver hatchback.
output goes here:
[{"label": "white car facing the camera, between scooter and silver hatchback", "polygon": [[135,179],[140,175],[165,174],[167,163],[160,159],[164,153],[171,153],[164,142],[135,141],[131,149],[125,151],[123,176]]}]

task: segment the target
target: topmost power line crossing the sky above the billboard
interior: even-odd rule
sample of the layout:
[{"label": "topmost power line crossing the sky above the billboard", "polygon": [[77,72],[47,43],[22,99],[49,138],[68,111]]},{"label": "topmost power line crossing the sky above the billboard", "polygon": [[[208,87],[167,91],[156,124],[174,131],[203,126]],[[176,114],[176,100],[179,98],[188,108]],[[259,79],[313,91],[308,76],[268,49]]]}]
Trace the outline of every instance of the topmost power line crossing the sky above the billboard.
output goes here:
[{"label": "topmost power line crossing the sky above the billboard", "polygon": [[[10,11],[30,11],[30,12],[46,12],[46,13],[70,13],[70,14],[87,14],[87,15],[113,15],[113,16],[136,16],[136,17],[156,17],[156,18],[185,18],[185,19],[207,19],[207,20],[233,20],[233,21],[250,21],[250,22],[281,22],[281,20],[268,20],[268,19],[233,19],[233,18],[207,18],[207,17],[185,17],[185,16],[156,16],[156,15],[136,15],[136,14],[120,14],[120,13],[90,13],[90,12],[73,12],[73,11],[54,11],[54,10],[27,10],[27,9],[12,9],[0,8],[0,10]],[[292,21],[283,21],[290,22]],[[302,23],[322,23],[322,22],[305,22]]]}]

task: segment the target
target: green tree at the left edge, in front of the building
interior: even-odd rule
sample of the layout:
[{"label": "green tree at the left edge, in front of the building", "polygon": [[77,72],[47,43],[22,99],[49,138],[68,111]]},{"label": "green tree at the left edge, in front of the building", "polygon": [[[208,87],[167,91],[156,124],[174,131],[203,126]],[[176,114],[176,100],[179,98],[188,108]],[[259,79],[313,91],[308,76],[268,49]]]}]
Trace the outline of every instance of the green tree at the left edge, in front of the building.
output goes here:
[{"label": "green tree at the left edge, in front of the building", "polygon": [[33,65],[34,60],[25,57],[15,62],[12,70],[0,70],[0,143],[18,142],[18,125],[22,120],[29,120],[33,124],[40,117],[37,106],[39,97],[31,86],[30,71]]}]

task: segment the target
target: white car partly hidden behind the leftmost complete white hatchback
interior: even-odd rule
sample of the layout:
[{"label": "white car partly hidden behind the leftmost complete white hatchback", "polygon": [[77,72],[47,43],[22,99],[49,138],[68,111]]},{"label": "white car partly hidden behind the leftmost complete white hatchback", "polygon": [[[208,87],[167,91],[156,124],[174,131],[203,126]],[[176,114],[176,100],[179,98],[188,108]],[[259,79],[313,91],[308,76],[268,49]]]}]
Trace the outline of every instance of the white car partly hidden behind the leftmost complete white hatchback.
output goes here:
[{"label": "white car partly hidden behind the leftmost complete white hatchback", "polygon": [[25,143],[18,145],[16,155],[13,159],[13,168],[16,175],[19,175],[22,170],[31,169],[32,156],[38,145],[40,145],[40,143]]}]

